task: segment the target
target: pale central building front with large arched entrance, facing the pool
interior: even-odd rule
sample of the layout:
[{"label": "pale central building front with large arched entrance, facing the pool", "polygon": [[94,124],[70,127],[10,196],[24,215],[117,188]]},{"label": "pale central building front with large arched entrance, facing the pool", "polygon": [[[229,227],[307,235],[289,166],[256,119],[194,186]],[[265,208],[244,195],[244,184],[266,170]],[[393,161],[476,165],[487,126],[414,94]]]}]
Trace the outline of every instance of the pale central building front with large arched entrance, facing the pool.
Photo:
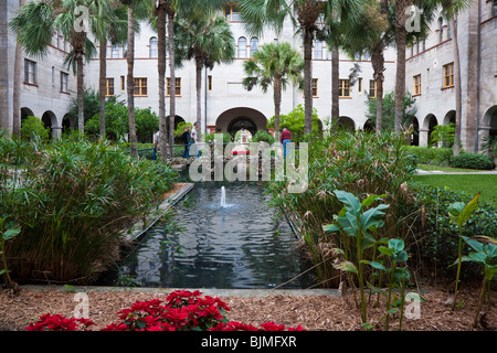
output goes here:
[{"label": "pale central building front with large arched entrance, facing the pool", "polygon": [[[251,131],[265,130],[266,122],[274,116],[273,90],[266,94],[254,87],[246,90],[242,86],[245,77],[243,63],[258,46],[272,42],[288,42],[294,49],[303,51],[302,36],[295,35],[295,28],[290,20],[286,20],[283,31],[277,35],[271,29],[264,31],[261,38],[246,33],[240,14],[234,8],[226,8],[224,15],[230,22],[235,41],[236,55],[230,64],[214,66],[213,69],[202,72],[202,132],[235,133],[244,126]],[[157,33],[147,24],[141,23],[136,38],[134,76],[137,89],[135,106],[151,108],[158,113],[158,68],[157,68]],[[107,45],[107,89],[109,96],[126,101],[126,45]],[[315,42],[313,51],[313,106],[321,122],[326,125],[331,116],[331,53],[325,42]],[[355,64],[360,65],[361,73],[355,84],[349,76]],[[367,100],[370,93],[370,82],[373,82],[371,62],[366,60],[352,61],[347,55],[340,55],[340,117],[339,124],[352,128],[363,128],[366,125]],[[394,87],[395,52],[390,49],[385,53],[385,92]],[[167,62],[167,82],[169,81],[169,61]],[[86,77],[93,88],[98,88],[98,58],[87,65]],[[177,121],[193,122],[195,110],[195,66],[193,61],[184,63],[176,71],[176,115]],[[170,84],[168,84],[168,87]],[[304,105],[304,94],[298,87],[289,85],[282,97],[282,114],[288,114],[298,105]],[[167,90],[166,111],[169,106],[169,88]]]}]

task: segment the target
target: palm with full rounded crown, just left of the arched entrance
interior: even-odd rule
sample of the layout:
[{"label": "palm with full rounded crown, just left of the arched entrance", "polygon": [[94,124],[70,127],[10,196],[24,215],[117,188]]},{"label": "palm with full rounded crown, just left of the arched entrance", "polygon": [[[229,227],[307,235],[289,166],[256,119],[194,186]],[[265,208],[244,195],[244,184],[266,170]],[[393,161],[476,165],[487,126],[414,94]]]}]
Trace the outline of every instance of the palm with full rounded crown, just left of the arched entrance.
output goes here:
[{"label": "palm with full rounded crown, just left of the arched entrance", "polygon": [[[202,126],[202,69],[215,64],[230,63],[235,57],[234,38],[223,15],[213,11],[189,11],[177,21],[176,51],[178,67],[181,61],[194,60],[197,89],[197,122]],[[172,89],[172,87],[171,87]]]}]

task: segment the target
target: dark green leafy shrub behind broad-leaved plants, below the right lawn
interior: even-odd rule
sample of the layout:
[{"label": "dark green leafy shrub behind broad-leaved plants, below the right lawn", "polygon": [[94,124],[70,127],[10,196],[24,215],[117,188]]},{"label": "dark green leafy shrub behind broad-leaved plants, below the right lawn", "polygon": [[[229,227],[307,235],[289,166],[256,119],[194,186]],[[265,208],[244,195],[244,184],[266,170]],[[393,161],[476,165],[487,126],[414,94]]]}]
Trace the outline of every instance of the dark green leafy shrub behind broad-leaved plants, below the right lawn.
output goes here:
[{"label": "dark green leafy shrub behind broad-leaved plants, below the right lawn", "polygon": [[[426,275],[455,274],[450,267],[457,258],[458,231],[448,217],[448,206],[454,202],[467,203],[474,195],[438,189],[425,184],[411,184],[415,195],[415,207],[423,207],[422,217],[414,232],[415,246],[412,254],[422,265]],[[479,203],[478,208],[463,228],[463,236],[497,234],[497,208],[488,203]],[[415,250],[414,250],[415,249]]]}]

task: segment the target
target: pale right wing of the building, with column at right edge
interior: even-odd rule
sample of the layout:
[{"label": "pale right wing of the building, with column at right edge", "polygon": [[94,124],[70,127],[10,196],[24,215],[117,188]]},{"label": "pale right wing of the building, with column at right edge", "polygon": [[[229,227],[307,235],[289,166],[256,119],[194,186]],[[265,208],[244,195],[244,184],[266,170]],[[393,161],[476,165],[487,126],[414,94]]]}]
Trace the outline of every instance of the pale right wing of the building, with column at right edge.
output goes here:
[{"label": "pale right wing of the building, with column at right edge", "polygon": [[[474,1],[457,17],[462,84],[462,147],[474,152],[497,135],[497,0]],[[415,97],[420,145],[436,125],[455,121],[454,43],[438,13],[430,35],[406,49],[406,89]],[[478,132],[477,132],[478,131]]]}]

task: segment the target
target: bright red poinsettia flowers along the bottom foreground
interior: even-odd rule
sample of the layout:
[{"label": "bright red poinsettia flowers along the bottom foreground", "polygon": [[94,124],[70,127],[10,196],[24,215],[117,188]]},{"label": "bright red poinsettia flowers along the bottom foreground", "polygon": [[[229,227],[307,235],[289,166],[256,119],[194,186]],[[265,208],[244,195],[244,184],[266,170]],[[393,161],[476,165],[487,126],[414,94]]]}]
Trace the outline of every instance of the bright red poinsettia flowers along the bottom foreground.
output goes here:
[{"label": "bright red poinsettia flowers along the bottom foreground", "polygon": [[[110,323],[101,331],[304,331],[298,325],[287,328],[266,322],[260,328],[229,321],[230,311],[219,298],[202,296],[198,290],[177,290],[166,301],[152,299],[136,301],[131,308],[117,312],[120,321]],[[68,319],[60,314],[44,314],[30,323],[27,331],[91,331],[95,323],[89,319]]]}]

